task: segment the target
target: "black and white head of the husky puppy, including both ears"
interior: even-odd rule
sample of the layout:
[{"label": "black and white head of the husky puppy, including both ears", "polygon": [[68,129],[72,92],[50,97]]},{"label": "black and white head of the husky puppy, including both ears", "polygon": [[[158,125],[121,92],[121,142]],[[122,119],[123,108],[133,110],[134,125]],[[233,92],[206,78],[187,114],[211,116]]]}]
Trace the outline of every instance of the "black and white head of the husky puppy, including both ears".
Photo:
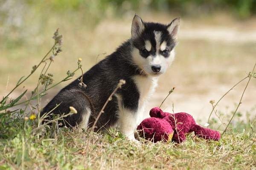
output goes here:
[{"label": "black and white head of the husky puppy, including both ears", "polygon": [[144,22],[135,14],[131,25],[133,62],[144,74],[157,76],[166,72],[175,52],[180,18],[168,25]]}]

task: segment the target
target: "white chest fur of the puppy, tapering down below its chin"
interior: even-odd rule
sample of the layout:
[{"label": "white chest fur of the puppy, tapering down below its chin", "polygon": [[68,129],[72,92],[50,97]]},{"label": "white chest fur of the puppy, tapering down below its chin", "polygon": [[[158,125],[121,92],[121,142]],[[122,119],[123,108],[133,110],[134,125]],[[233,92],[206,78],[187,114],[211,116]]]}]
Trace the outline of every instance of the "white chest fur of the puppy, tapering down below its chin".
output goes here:
[{"label": "white chest fur of the puppy, tapering down below its chin", "polygon": [[149,98],[154,93],[155,88],[157,87],[157,77],[143,77],[140,75],[134,76],[134,82],[137,86],[137,89],[140,93],[139,98],[139,105],[138,105],[138,111],[137,115],[139,116],[137,118],[138,123],[142,121],[143,113],[145,112],[146,104],[148,103]]}]

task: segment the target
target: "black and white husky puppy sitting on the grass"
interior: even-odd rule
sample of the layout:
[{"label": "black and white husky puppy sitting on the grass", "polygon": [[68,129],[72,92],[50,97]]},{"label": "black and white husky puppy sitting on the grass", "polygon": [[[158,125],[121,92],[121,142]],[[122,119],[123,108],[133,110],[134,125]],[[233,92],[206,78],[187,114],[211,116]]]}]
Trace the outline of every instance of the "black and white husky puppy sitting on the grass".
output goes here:
[{"label": "black and white husky puppy sitting on the grass", "polygon": [[68,113],[72,106],[77,114],[67,116],[63,123],[70,127],[92,127],[111,92],[119,80],[124,79],[126,83],[118,89],[97,121],[96,131],[119,125],[128,139],[135,140],[134,130],[157,86],[157,79],[174,59],[179,23],[179,18],[167,25],[144,22],[135,14],[131,38],[82,75],[87,87],[81,88],[79,80],[73,81],[58,92],[41,115],[57,104],[60,105],[54,109],[54,114]]}]

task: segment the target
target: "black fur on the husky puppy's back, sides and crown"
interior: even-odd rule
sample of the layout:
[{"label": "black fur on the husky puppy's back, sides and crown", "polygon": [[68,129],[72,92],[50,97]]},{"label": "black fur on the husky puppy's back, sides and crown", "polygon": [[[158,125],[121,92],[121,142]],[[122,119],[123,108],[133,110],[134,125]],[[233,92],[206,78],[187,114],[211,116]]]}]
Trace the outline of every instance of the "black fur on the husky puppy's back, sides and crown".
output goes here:
[{"label": "black fur on the husky puppy's back, sides and crown", "polygon": [[[124,79],[126,84],[117,91],[122,96],[122,103],[125,108],[131,111],[138,109],[138,101],[140,93],[134,83],[134,75],[147,76],[133,62],[131,52],[133,48],[140,51],[145,46],[145,40],[150,40],[152,45],[155,42],[153,31],[161,31],[161,41],[166,40],[167,46],[172,49],[175,42],[167,31],[167,26],[159,23],[144,23],[145,30],[141,37],[136,40],[127,40],[115,52],[107,56],[104,60],[97,63],[83,75],[83,82],[87,85],[85,89],[79,87],[79,80],[75,80],[58,92],[57,95],[44,107],[41,114],[45,114],[52,110],[57,104],[60,104],[54,111],[54,114],[67,114],[70,112],[69,107],[72,106],[78,111],[67,118],[63,122],[66,126],[76,126],[81,122],[82,113],[86,107],[92,111],[88,125],[92,126],[95,118],[102,109],[108,97],[116,88],[120,79]],[[154,53],[154,50],[152,50]],[[144,57],[144,56],[143,56]],[[145,56],[146,57],[146,56]],[[88,99],[89,98],[89,99]],[[114,95],[105,107],[105,112],[99,118],[96,127],[105,128],[115,124],[118,119],[117,98]],[[50,116],[52,118],[52,116]]]}]

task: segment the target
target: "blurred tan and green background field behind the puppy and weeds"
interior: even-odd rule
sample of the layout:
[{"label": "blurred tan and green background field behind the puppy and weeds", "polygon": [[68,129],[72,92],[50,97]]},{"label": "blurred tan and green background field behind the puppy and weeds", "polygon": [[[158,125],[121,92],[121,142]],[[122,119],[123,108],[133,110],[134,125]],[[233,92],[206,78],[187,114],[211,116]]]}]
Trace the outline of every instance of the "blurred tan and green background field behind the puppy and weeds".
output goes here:
[{"label": "blurred tan and green background field behind the puppy and weeds", "polygon": [[[149,108],[176,86],[165,109],[171,111],[174,103],[175,112],[207,117],[209,100],[217,100],[244,78],[256,61],[256,0],[0,0],[0,96],[30,73],[52,46],[57,28],[64,43],[49,69],[55,81],[76,67],[77,58],[83,59],[86,71],[111,54],[130,37],[135,13],[145,21],[162,23],[181,17],[176,60],[160,78]],[[32,90],[39,74],[24,88]],[[53,89],[43,103],[64,85]],[[255,85],[254,80],[247,89],[243,113],[256,114]],[[220,109],[231,111],[243,87],[233,90]]]}]

